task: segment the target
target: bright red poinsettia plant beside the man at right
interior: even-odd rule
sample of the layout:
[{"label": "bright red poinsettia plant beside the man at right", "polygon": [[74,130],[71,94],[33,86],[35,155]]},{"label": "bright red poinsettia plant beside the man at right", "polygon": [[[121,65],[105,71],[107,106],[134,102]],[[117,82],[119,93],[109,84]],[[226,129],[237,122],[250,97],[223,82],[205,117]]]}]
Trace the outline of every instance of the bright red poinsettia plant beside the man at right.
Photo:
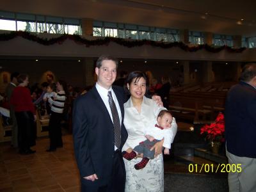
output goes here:
[{"label": "bright red poinsettia plant beside the man at right", "polygon": [[207,140],[224,142],[225,122],[223,113],[219,113],[214,123],[205,124],[200,131],[200,134],[204,134]]}]

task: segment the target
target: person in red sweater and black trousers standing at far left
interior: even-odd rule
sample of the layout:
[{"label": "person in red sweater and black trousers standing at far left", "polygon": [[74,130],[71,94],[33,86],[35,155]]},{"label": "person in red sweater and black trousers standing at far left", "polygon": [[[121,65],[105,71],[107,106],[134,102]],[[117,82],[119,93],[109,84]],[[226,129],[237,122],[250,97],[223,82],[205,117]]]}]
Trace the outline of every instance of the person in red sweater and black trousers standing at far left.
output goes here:
[{"label": "person in red sweater and black trousers standing at far left", "polygon": [[12,93],[10,104],[14,107],[18,125],[18,146],[20,154],[33,154],[36,151],[30,147],[35,145],[35,106],[33,105],[28,86],[28,75],[20,74],[17,77],[19,86]]}]

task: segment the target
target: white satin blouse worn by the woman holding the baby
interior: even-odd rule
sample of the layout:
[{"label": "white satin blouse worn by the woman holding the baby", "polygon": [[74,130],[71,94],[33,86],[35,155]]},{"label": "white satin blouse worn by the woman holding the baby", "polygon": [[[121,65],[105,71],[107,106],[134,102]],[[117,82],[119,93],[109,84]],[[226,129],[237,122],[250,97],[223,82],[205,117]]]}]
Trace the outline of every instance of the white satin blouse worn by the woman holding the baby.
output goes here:
[{"label": "white satin blouse worn by the woman holding the baby", "polygon": [[[145,132],[150,128],[152,120],[156,120],[158,113],[163,109],[166,108],[159,108],[154,100],[147,97],[143,97],[140,113],[134,108],[131,98],[125,102],[124,125],[128,132],[128,138],[122,151],[127,150],[127,148],[134,148],[141,141],[146,140]],[[174,117],[170,130],[173,132],[173,138],[170,141],[172,143],[177,132],[177,124]]]}]

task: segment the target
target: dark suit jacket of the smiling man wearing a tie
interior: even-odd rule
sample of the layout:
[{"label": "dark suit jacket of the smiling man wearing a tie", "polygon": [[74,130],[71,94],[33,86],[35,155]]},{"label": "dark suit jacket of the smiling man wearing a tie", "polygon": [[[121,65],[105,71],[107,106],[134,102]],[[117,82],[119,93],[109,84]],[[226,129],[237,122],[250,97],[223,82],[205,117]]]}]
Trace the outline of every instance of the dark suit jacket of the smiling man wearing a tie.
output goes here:
[{"label": "dark suit jacket of the smiling man wearing a tie", "polygon": [[[124,89],[112,86],[121,113],[121,146],[127,140],[124,127]],[[90,92],[77,98],[73,110],[74,150],[81,181],[86,185],[108,184],[113,168],[115,146],[114,128],[111,117],[95,86]],[[94,182],[83,177],[96,173]]]}]

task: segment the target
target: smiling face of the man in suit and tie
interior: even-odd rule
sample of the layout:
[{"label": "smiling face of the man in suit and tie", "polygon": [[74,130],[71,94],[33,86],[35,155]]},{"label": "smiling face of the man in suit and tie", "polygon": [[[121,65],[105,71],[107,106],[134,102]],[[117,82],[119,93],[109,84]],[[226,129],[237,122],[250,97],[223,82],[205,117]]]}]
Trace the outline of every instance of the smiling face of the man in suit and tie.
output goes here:
[{"label": "smiling face of the man in suit and tie", "polygon": [[109,90],[116,79],[116,63],[112,60],[102,61],[100,68],[95,68],[95,73],[98,76],[97,83]]}]

